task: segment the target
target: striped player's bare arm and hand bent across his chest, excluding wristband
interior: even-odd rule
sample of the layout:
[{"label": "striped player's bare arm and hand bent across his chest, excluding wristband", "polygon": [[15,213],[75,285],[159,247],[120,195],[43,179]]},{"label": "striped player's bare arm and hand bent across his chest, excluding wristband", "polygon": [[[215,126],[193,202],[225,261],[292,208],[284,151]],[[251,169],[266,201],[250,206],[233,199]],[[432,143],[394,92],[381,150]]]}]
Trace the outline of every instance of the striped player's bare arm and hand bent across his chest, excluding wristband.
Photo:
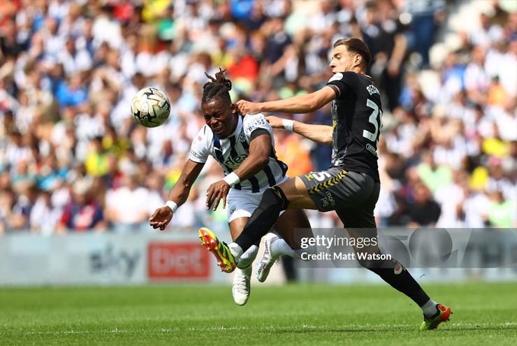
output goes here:
[{"label": "striped player's bare arm and hand bent across his chest, excluding wristband", "polygon": [[[265,131],[258,129],[256,131]],[[249,143],[249,156],[242,161],[242,164],[233,171],[238,176],[239,180],[246,180],[256,175],[256,173],[262,171],[265,166],[269,163],[269,154],[271,151],[271,136],[268,133],[260,134],[252,139]],[[232,174],[233,174],[232,173]],[[214,182],[207,189],[206,206],[210,208],[212,203],[214,207],[212,210],[216,210],[219,206],[219,201],[223,200],[223,208],[226,207],[226,196],[230,192],[231,186],[226,180],[219,180]]]}]

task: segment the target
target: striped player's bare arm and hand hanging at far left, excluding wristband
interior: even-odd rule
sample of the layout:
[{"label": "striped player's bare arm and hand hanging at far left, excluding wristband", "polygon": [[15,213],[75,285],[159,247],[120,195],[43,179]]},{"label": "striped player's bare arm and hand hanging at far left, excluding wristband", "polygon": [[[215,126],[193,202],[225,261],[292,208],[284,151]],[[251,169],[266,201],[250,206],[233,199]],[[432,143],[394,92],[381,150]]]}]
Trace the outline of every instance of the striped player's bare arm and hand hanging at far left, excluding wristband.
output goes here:
[{"label": "striped player's bare arm and hand hanging at far left, excluding wristband", "polygon": [[[205,164],[200,164],[191,160],[187,160],[180,179],[177,180],[173,188],[170,190],[168,201],[173,201],[177,206],[181,206],[189,197],[190,189],[201,173]],[[173,219],[174,210],[169,206],[163,206],[154,211],[149,218],[149,223],[154,229],[165,229],[167,224]]]}]

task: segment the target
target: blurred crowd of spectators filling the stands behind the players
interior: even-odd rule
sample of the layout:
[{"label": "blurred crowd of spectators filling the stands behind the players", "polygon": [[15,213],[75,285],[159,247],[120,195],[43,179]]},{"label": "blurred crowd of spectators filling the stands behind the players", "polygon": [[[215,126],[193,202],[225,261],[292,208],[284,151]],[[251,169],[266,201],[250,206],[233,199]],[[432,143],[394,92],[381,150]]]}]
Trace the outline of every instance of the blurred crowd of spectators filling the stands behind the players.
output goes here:
[{"label": "blurred crowd of spectators filling the stands behind the players", "polygon": [[[487,1],[433,60],[456,1],[0,0],[0,233],[152,231],[204,124],[205,72],[226,69],[234,101],[312,92],[351,36],[384,97],[379,226],[516,227],[517,11]],[[171,103],[154,129],[130,112],[145,86]],[[332,123],[328,107],[293,118]],[[275,140],[291,176],[330,164],[328,146]],[[167,230],[227,229],[205,210],[222,176],[209,160]]]}]

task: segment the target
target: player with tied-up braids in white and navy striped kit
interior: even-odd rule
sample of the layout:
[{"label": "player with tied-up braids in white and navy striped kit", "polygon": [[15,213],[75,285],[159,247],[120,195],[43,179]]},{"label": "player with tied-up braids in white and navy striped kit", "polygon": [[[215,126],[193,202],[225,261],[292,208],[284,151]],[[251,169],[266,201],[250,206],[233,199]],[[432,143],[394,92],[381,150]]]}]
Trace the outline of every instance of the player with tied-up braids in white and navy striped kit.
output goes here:
[{"label": "player with tied-up braids in white and navy striped kit", "polygon": [[[222,201],[228,210],[228,224],[235,240],[261,201],[263,192],[289,180],[289,176],[286,175],[286,164],[276,157],[272,128],[265,117],[262,114],[240,115],[237,106],[231,102],[231,81],[225,78],[224,71],[216,73],[215,78],[207,77],[210,82],[203,85],[201,99],[206,125],[192,142],[189,159],[170,191],[166,206],[156,209],[149,221],[154,229],[165,229],[177,208],[187,201],[192,185],[211,156],[223,168],[225,178],[208,187],[206,206],[216,210]],[[273,233],[264,237],[265,253],[257,269],[261,282],[279,256],[301,258],[303,253],[316,252],[316,247],[301,249],[300,241],[296,241],[313,236],[303,210],[284,212],[274,229],[281,238]],[[294,229],[297,229],[296,233]],[[232,292],[238,305],[245,305],[249,298],[251,264],[258,252],[259,241],[242,254],[235,270]]]}]

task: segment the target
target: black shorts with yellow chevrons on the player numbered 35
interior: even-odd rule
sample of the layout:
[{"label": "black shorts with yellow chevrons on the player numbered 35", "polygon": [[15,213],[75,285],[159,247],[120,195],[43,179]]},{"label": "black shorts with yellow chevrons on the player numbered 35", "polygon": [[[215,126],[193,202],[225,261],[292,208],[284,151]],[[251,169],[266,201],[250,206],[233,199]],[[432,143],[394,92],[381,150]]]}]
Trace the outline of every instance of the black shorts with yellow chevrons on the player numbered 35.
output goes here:
[{"label": "black shorts with yellow chevrons on the player numbered 35", "polygon": [[375,227],[373,210],[381,185],[367,173],[333,167],[298,176],[319,211],[335,210],[345,227]]}]

